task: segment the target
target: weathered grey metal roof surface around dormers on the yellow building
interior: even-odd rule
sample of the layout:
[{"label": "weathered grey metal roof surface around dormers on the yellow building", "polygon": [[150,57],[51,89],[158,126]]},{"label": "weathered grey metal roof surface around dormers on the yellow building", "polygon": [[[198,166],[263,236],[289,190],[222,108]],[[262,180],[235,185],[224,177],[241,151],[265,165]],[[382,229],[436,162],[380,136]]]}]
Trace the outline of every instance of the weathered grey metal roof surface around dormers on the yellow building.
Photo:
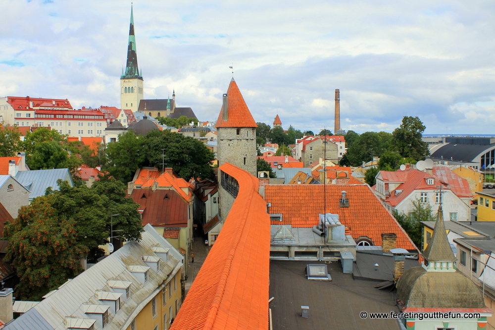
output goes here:
[{"label": "weathered grey metal roof surface around dormers on the yellow building", "polygon": [[[143,284],[128,271],[127,266],[146,266],[142,257],[154,256],[152,248],[156,246],[169,249],[168,262],[162,260],[159,272],[150,269],[148,282]],[[105,330],[126,329],[144,307],[143,303],[153,298],[152,294],[161,287],[163,281],[170,281],[180,270],[182,260],[180,252],[148,224],[139,242],[128,242],[93,267],[64,283],[53,294],[4,329],[66,330],[66,317],[88,319],[90,317],[85,314],[88,305],[107,306],[98,298],[101,290],[113,292],[108,285],[109,280],[132,282],[131,298],[122,301],[121,309],[116,314],[109,310],[109,324],[105,326]],[[95,324],[95,329],[101,328]]]}]

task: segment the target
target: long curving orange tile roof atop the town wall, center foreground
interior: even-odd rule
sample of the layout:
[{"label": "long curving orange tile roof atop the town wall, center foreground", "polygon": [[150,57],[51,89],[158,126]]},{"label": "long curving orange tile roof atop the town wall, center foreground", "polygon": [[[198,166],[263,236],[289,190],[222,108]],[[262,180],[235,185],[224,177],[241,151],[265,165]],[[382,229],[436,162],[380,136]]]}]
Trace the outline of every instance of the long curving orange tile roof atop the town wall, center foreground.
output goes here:
[{"label": "long curving orange tile roof atop the town wall, center foreground", "polygon": [[239,194],[171,330],[267,329],[270,221],[258,179],[226,163]]}]

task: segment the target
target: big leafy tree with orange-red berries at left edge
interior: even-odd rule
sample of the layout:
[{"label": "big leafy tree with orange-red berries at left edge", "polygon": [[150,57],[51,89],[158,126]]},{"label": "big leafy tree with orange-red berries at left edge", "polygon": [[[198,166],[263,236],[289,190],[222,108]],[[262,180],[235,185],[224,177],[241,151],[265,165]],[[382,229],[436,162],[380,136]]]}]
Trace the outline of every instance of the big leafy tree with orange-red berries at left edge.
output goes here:
[{"label": "big leafy tree with orange-red berries at left edge", "polygon": [[18,218],[5,224],[9,244],[3,260],[20,278],[18,299],[40,301],[83,271],[79,260],[88,250],[78,242],[75,221],[58,217],[50,201],[50,196],[34,199],[19,210]]}]

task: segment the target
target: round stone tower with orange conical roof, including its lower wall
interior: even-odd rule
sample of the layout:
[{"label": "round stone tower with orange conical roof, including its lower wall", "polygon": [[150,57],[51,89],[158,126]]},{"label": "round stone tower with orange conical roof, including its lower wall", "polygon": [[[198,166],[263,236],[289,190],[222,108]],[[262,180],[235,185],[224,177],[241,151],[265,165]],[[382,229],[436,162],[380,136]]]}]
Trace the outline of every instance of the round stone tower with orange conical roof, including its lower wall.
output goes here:
[{"label": "round stone tower with orange conical roof, including its lower wall", "polygon": [[[223,105],[216,122],[218,166],[230,163],[250,174],[256,172],[256,122],[247,108],[246,102],[234,78],[230,81],[227,94],[223,95]],[[225,220],[234,199],[232,189],[227,187],[225,173],[219,173],[220,218]],[[230,182],[229,184],[232,184]]]}]

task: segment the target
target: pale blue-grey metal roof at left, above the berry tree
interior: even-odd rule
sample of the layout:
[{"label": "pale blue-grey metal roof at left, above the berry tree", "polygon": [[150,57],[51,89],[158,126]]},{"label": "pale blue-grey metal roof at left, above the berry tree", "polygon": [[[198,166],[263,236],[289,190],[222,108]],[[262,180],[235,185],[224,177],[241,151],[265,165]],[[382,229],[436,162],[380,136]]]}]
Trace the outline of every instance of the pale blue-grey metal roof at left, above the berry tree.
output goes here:
[{"label": "pale blue-grey metal roof at left, above the berry tree", "polygon": [[57,190],[59,188],[57,184],[58,179],[68,181],[71,186],[74,186],[74,181],[72,181],[68,168],[18,171],[15,178],[26,189],[31,191],[29,194],[30,200],[45,195],[45,190],[48,187]]}]

